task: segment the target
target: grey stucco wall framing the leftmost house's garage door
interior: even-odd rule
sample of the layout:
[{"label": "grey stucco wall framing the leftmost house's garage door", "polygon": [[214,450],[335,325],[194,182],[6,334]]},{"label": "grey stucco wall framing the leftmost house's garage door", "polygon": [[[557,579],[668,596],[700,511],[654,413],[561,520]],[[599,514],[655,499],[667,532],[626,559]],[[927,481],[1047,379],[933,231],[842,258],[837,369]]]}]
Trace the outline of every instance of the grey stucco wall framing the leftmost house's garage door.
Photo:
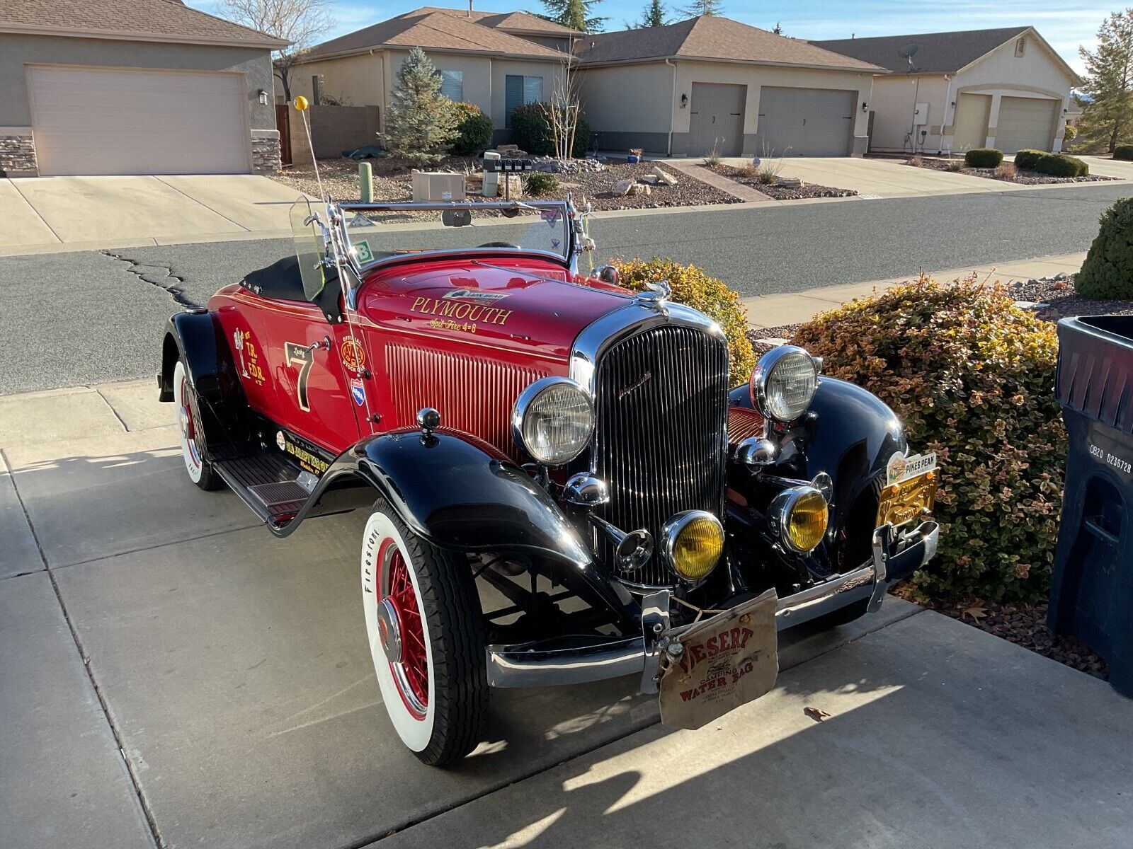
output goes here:
[{"label": "grey stucco wall framing the leftmost house's garage door", "polygon": [[[0,127],[32,125],[25,65],[236,71],[247,82],[252,129],[275,129],[272,65],[264,49],[0,33]],[[261,105],[256,95],[261,88],[269,94],[267,105]]]}]

